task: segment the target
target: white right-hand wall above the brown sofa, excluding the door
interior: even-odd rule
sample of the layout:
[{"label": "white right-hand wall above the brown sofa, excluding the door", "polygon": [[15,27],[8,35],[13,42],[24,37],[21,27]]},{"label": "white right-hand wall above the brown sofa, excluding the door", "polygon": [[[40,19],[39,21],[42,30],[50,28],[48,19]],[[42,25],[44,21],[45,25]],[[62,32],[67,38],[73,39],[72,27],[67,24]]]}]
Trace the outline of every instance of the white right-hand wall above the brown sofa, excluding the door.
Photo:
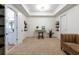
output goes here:
[{"label": "white right-hand wall above the brown sofa, excluding the door", "polygon": [[[61,21],[60,16],[62,15],[66,15],[67,19],[66,33],[79,34],[79,5],[59,15],[57,19]],[[65,23],[64,20],[63,23]]]}]

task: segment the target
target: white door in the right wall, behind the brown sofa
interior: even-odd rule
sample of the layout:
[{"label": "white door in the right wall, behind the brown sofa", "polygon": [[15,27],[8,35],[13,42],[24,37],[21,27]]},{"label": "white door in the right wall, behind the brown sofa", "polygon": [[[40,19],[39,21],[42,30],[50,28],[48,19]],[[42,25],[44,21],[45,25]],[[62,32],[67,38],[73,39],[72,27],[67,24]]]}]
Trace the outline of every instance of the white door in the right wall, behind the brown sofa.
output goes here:
[{"label": "white door in the right wall, behind the brown sofa", "polygon": [[62,34],[67,32],[67,16],[66,15],[60,16],[60,32]]}]

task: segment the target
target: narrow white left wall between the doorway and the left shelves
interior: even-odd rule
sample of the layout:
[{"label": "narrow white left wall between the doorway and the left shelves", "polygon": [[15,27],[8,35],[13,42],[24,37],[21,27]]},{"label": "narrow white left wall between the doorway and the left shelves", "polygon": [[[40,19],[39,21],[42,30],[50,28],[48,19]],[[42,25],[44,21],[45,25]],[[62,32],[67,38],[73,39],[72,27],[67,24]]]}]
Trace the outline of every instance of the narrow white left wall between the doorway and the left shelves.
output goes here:
[{"label": "narrow white left wall between the doorway and the left shelves", "polygon": [[26,37],[26,32],[24,32],[24,20],[26,20],[25,15],[22,13],[18,13],[18,39],[19,43],[23,41],[23,39]]}]

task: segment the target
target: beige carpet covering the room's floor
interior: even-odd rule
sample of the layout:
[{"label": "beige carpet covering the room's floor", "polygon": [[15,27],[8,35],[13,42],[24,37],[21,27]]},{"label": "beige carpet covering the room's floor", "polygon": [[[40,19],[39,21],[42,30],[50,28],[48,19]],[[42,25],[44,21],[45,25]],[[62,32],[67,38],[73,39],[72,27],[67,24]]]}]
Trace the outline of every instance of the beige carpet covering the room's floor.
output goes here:
[{"label": "beige carpet covering the room's floor", "polygon": [[15,47],[9,55],[65,55],[60,48],[60,40],[56,38],[26,38],[21,45]]}]

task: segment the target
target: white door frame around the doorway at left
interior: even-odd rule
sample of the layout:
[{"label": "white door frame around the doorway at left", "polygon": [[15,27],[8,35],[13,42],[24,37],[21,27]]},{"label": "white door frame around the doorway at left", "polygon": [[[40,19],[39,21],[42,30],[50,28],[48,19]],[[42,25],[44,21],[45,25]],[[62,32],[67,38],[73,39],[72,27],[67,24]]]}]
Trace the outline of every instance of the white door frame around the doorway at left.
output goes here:
[{"label": "white door frame around the doorway at left", "polygon": [[[18,13],[11,6],[5,5],[5,25],[6,25],[6,8],[11,9],[15,13],[15,24],[16,24],[16,27],[15,27],[16,28],[15,29],[15,31],[16,31],[16,44],[15,44],[15,46],[17,46],[17,44],[18,44]],[[6,26],[5,26],[5,54],[7,54],[7,52],[11,51],[14,48],[13,47],[9,51],[7,51],[6,43],[7,43],[7,40],[6,40]]]}]

